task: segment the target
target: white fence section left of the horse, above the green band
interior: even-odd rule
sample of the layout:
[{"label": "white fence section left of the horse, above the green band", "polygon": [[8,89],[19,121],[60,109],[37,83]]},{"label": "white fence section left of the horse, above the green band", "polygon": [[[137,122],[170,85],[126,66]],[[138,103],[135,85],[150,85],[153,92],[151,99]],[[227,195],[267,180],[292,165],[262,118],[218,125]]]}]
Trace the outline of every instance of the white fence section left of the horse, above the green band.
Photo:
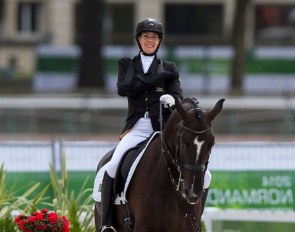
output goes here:
[{"label": "white fence section left of the horse, above the green band", "polygon": [[95,171],[101,156],[114,146],[96,141],[7,141],[0,142],[0,162],[7,172],[49,171],[49,164],[59,171],[65,154],[67,170]]}]

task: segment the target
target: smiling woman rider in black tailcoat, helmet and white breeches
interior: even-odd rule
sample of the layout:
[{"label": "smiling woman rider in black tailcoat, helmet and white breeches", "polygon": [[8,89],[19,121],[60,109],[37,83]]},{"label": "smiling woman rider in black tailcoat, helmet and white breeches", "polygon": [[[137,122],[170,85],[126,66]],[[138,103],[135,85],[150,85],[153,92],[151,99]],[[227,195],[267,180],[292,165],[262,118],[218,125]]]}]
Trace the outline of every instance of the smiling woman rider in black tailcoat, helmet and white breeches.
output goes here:
[{"label": "smiling woman rider in black tailcoat, helmet and white breeches", "polygon": [[128,100],[128,115],[112,159],[107,163],[101,193],[100,231],[115,231],[111,226],[111,207],[114,201],[112,186],[117,167],[123,154],[131,147],[159,131],[159,106],[164,104],[163,125],[171,114],[168,107],[174,98],[183,98],[179,74],[175,63],[161,61],[157,57],[164,35],[163,25],[156,19],[147,18],[136,27],[135,39],[139,54],[119,60],[117,92]]}]

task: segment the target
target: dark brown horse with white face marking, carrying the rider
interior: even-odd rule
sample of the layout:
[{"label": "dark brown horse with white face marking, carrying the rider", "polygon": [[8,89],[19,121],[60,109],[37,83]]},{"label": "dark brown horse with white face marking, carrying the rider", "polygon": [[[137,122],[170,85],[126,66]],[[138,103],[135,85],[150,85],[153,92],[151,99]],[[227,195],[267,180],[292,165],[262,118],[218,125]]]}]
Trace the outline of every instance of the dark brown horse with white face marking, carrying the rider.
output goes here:
[{"label": "dark brown horse with white face marking, carrying the rider", "polygon": [[[117,231],[198,231],[204,173],[215,137],[212,121],[224,99],[211,111],[195,99],[175,99],[175,108],[163,132],[147,146],[130,181],[126,205],[113,207]],[[102,160],[99,167],[105,163]],[[99,168],[98,168],[99,169]],[[126,229],[126,207],[131,222]],[[95,222],[100,226],[100,203],[95,203]]]}]

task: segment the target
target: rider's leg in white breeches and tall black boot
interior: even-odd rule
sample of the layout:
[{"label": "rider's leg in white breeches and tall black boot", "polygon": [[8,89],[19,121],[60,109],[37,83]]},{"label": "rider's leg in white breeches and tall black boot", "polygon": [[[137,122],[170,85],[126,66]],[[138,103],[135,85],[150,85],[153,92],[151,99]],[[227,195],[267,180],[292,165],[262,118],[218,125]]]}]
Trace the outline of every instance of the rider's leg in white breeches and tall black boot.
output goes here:
[{"label": "rider's leg in white breeches and tall black boot", "polygon": [[130,148],[144,141],[153,132],[149,119],[140,119],[138,123],[118,143],[112,159],[107,163],[106,173],[103,178],[101,191],[101,229],[100,231],[114,231],[111,229],[112,212],[114,201],[113,182],[118,164],[123,154]]}]

